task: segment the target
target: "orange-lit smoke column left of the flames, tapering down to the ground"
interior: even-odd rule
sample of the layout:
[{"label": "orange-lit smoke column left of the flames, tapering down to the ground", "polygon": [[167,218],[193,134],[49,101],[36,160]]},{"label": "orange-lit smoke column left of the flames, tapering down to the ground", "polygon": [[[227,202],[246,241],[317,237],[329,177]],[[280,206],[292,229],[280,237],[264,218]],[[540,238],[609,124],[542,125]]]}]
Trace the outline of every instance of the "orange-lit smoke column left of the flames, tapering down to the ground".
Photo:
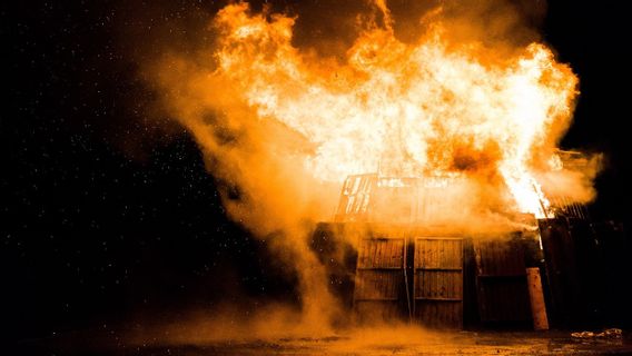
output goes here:
[{"label": "orange-lit smoke column left of the flames, tapering down to the ground", "polygon": [[[166,108],[191,132],[207,167],[220,182],[228,215],[271,248],[299,276],[303,323],[327,327],[336,304],[326,276],[307,241],[314,224],[325,219],[335,200],[328,187],[307,175],[293,158],[303,141],[283,126],[257,119],[213,67],[170,57],[157,80]],[[166,66],[166,67],[162,67]]]}]

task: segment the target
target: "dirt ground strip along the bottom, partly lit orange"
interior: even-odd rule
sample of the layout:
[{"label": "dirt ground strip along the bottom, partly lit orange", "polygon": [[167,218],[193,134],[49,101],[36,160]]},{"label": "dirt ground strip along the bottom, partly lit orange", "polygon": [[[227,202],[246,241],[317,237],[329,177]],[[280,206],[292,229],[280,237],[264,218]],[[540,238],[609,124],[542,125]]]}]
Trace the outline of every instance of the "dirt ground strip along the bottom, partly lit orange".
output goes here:
[{"label": "dirt ground strip along the bottom, partly lit orange", "polygon": [[29,340],[16,354],[36,355],[632,355],[630,332],[623,337],[576,338],[570,332],[355,330],[327,337],[267,340],[127,343],[86,337]]}]

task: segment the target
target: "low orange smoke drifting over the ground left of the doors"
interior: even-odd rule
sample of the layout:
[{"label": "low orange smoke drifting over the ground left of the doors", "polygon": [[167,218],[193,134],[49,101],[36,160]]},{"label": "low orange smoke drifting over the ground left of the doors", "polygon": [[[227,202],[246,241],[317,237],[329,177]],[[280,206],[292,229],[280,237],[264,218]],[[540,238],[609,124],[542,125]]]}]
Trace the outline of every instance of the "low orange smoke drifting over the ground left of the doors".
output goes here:
[{"label": "low orange smoke drifting over the ground left of the doors", "polygon": [[[174,322],[134,330],[127,342],[144,347],[205,345],[214,350],[246,355],[269,348],[277,353],[288,350],[290,354],[306,350],[310,355],[373,355],[404,347],[427,350],[431,343],[438,344],[438,348],[443,349],[445,344],[456,342],[445,333],[433,333],[405,324],[354,327],[339,335],[315,335],[302,327],[300,315],[284,306],[266,306],[248,316],[227,306],[219,314],[198,313],[184,323]],[[274,344],[270,345],[270,340]]]}]

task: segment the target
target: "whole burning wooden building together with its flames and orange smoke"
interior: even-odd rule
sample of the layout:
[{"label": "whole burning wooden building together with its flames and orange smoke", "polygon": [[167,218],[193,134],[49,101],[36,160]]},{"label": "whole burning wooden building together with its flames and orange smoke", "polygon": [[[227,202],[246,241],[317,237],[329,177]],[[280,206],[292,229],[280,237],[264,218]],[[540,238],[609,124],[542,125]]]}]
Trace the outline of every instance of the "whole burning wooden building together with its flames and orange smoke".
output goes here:
[{"label": "whole burning wooden building together with its flames and orange smoke", "polygon": [[[338,57],[300,48],[296,17],[234,3],[213,22],[210,56],[165,60],[166,102],[229,182],[228,214],[285,237],[279,256],[316,316],[323,266],[359,319],[529,320],[526,268],[562,310],[574,263],[554,241],[571,221],[592,234],[583,205],[599,170],[559,149],[577,77],[536,39],[454,34],[475,21],[441,6],[406,41],[385,1],[368,7]],[[329,221],[313,234],[316,256],[305,221]]]}]

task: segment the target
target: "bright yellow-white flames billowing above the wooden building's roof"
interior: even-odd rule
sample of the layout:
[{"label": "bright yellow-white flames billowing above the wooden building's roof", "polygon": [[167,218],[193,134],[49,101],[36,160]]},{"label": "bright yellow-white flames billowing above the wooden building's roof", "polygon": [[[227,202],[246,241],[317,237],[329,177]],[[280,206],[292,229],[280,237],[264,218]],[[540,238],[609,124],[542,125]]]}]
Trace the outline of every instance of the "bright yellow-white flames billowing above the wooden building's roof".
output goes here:
[{"label": "bright yellow-white flames billowing above the wooden building's roof", "polygon": [[240,92],[260,120],[298,132],[294,152],[322,181],[379,172],[389,177],[464,175],[500,181],[514,208],[549,216],[537,171],[556,161],[577,78],[542,43],[510,58],[476,43],[454,46],[435,23],[414,43],[384,16],[340,63],[292,43],[294,18],[223,9],[213,73]]}]

